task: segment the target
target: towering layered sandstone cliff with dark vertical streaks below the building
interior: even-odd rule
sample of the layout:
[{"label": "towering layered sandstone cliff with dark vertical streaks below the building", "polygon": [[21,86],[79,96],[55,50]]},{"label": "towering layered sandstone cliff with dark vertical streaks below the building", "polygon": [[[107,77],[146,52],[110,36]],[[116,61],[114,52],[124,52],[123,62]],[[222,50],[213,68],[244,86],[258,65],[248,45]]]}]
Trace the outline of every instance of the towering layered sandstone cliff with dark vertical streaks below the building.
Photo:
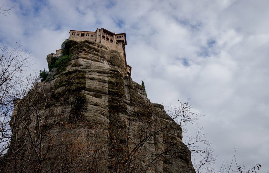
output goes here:
[{"label": "towering layered sandstone cliff with dark vertical streaks below the building", "polygon": [[70,47],[66,71],[18,101],[6,172],[194,173],[181,127],[125,75],[123,57]]}]

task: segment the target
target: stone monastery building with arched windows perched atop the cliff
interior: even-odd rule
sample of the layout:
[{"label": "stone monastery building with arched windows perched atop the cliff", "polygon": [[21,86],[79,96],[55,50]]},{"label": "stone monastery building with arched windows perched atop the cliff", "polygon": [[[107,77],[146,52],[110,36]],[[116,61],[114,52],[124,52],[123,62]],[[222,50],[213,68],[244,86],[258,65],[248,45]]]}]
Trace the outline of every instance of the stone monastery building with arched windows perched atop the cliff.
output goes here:
[{"label": "stone monastery building with arched windows perched atop the cliff", "polygon": [[115,34],[115,32],[104,28],[97,28],[95,32],[70,30],[69,39],[74,41],[91,40],[105,45],[108,50],[117,50],[125,60],[128,76],[131,76],[132,67],[126,62],[125,45],[127,45],[127,41],[125,33]]}]

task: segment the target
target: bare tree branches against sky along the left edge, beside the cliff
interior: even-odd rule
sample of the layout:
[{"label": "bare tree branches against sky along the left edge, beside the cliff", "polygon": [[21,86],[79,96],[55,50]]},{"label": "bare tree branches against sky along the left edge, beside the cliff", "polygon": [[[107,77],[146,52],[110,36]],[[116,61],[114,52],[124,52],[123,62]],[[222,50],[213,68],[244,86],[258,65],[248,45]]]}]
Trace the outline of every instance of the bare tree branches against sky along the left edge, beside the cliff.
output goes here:
[{"label": "bare tree branches against sky along the left edge, beside the cliff", "polygon": [[11,140],[13,99],[25,96],[30,88],[30,78],[23,73],[30,54],[25,55],[17,44],[13,49],[0,45],[0,51],[0,155],[3,155]]}]

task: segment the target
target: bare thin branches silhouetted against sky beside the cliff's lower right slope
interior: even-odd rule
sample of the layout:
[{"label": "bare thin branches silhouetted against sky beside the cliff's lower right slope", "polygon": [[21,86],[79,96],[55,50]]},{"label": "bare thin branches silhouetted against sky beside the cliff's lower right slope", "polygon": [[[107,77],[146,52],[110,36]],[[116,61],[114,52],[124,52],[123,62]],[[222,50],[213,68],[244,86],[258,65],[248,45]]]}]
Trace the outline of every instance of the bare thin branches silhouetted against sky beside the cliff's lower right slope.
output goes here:
[{"label": "bare thin branches silhouetted against sky beside the cliff's lower right slope", "polygon": [[[190,125],[198,125],[197,121],[204,115],[194,113],[193,107],[187,102],[182,103],[180,100],[178,106],[170,106],[168,109],[168,115],[175,117],[175,121],[182,127],[182,133],[188,132]],[[187,138],[184,143],[188,146],[192,153],[192,157],[196,156],[199,160],[194,160],[194,168],[197,173],[199,172],[212,172],[216,156],[214,155],[213,148],[210,147],[211,142],[206,139],[206,133],[202,132],[202,127],[199,128],[195,135],[185,136]],[[202,148],[202,146],[204,148]]]}]

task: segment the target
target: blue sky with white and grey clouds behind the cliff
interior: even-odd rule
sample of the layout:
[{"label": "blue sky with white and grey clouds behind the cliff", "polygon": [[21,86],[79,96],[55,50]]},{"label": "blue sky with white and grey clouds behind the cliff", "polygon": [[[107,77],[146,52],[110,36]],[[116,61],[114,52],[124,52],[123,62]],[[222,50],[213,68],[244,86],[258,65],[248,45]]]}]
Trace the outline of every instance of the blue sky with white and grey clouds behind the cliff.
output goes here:
[{"label": "blue sky with white and grey clouds behind the cliff", "polygon": [[[47,69],[70,29],[106,28],[127,36],[132,79],[164,106],[189,98],[205,115],[218,168],[237,161],[269,170],[269,1],[267,0],[0,0],[0,44],[32,54]],[[184,134],[186,136],[186,134]],[[191,135],[191,134],[189,134]]]}]

